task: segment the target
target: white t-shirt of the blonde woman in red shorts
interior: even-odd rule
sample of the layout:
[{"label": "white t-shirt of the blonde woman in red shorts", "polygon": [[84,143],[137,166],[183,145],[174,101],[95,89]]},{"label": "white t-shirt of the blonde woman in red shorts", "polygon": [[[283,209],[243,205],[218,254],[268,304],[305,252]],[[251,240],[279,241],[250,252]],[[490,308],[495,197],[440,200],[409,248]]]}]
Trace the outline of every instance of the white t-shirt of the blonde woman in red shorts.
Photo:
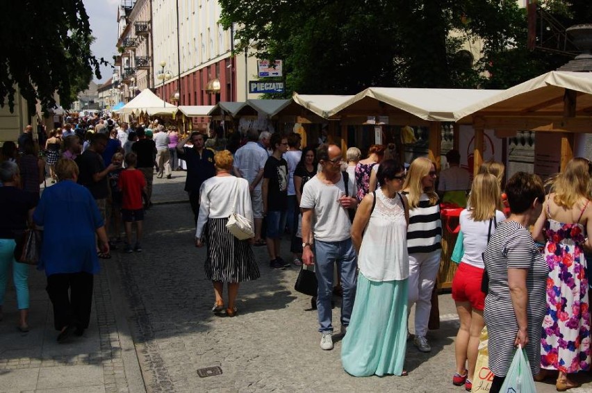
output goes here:
[{"label": "white t-shirt of the blonde woman in red shorts", "polygon": [[[495,221],[498,224],[504,221],[506,216],[500,210],[495,211]],[[463,231],[463,254],[462,262],[468,265],[484,269],[482,253],[487,247],[487,233],[489,231],[489,220],[473,221],[470,212],[464,209],[459,218],[461,231]],[[495,233],[495,225],[491,223],[491,235]]]}]

